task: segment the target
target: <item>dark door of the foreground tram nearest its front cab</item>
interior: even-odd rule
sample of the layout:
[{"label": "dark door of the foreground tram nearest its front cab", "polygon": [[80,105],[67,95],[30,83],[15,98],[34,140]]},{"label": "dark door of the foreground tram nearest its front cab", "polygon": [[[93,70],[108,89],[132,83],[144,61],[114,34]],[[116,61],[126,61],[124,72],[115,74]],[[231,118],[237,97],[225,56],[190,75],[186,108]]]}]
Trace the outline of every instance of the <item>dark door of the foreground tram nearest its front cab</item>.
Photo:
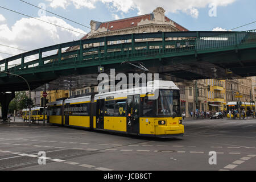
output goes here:
[{"label": "dark door of the foreground tram nearest its front cab", "polygon": [[139,95],[127,97],[127,133],[139,133]]}]

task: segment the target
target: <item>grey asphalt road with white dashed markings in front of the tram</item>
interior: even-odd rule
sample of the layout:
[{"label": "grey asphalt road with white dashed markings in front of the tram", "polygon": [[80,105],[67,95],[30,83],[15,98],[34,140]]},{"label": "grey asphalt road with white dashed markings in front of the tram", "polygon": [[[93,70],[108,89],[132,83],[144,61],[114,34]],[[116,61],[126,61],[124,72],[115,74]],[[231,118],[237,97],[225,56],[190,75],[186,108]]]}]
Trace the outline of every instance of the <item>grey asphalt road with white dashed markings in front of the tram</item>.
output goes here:
[{"label": "grey asphalt road with white dashed markings in front of the tram", "polygon": [[[256,170],[256,119],[183,123],[184,137],[164,140],[42,123],[0,124],[0,170]],[[209,164],[210,151],[216,164]]]}]

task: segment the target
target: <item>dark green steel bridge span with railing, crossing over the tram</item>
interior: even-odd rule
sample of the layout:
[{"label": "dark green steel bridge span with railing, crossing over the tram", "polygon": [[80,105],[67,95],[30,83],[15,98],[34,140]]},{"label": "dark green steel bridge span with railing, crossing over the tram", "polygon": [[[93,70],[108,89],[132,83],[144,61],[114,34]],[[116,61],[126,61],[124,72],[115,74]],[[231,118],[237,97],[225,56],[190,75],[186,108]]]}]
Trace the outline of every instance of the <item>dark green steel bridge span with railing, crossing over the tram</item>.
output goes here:
[{"label": "dark green steel bridge span with railing, crossing over the tram", "polygon": [[[200,36],[201,35],[201,36]],[[184,40],[167,40],[179,36]],[[149,41],[150,38],[162,38],[162,41]],[[113,40],[131,39],[131,43],[108,45],[106,42]],[[142,39],[142,42],[137,42]],[[86,43],[105,42],[104,46],[83,48]],[[81,49],[69,52],[61,52],[61,48],[79,46]],[[57,49],[57,54],[43,57],[43,52]],[[77,42],[57,44],[45,48],[36,49],[9,57],[0,61],[5,64],[5,71],[25,77],[30,82],[38,82],[35,86],[44,82],[55,80],[68,74],[97,73],[97,66],[116,67],[123,61],[140,61],[159,72],[158,67],[163,65],[175,66],[184,64],[210,63],[210,67],[216,65],[223,69],[229,69],[240,76],[255,76],[256,67],[256,33],[246,32],[160,32],[148,34],[128,34],[108,36],[104,38],[85,39]],[[24,57],[38,53],[39,59],[24,63]],[[13,68],[8,68],[10,61],[20,59],[20,63]],[[154,67],[151,67],[154,65]],[[193,68],[193,67],[192,67]],[[123,67],[123,71],[129,68]],[[202,68],[201,68],[202,69]],[[164,71],[162,71],[164,72]],[[168,72],[168,71],[167,71]],[[174,71],[172,71],[174,73]],[[204,73],[187,71],[188,75],[178,77],[193,78],[211,77]],[[174,74],[175,75],[175,74]],[[228,76],[227,76],[228,77]],[[192,79],[192,78],[191,78]],[[22,83],[22,80],[14,76],[0,73],[0,86]],[[14,87],[14,86],[13,86]],[[23,89],[23,88],[22,88]],[[2,89],[5,90],[5,89]],[[1,88],[0,88],[1,91]]]}]

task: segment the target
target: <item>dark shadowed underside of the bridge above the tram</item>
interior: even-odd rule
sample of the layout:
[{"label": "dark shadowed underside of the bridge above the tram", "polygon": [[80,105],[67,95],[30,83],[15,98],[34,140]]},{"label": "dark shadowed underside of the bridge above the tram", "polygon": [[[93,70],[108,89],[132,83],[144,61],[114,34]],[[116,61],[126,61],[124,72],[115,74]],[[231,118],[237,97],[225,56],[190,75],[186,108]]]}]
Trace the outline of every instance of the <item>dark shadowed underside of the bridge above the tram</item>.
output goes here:
[{"label": "dark shadowed underside of the bridge above the tram", "polygon": [[[110,73],[110,69],[115,69],[117,73],[159,73],[159,77],[164,80],[181,82],[185,80],[199,80],[207,78],[234,78],[256,76],[256,49],[239,49],[232,51],[207,52],[191,54],[177,57],[161,57],[157,55],[151,59],[141,59],[139,61],[129,61],[129,63],[141,63],[149,71],[134,67],[129,63],[108,64],[101,63],[105,68],[105,73]],[[98,63],[100,65],[100,63]],[[29,82],[31,90],[38,88],[45,83],[49,83],[48,89],[69,89],[83,88],[97,85],[98,68],[83,67],[63,69],[59,71],[40,72],[22,75]],[[28,90],[26,82],[15,76],[0,78],[0,92],[11,92]]]}]

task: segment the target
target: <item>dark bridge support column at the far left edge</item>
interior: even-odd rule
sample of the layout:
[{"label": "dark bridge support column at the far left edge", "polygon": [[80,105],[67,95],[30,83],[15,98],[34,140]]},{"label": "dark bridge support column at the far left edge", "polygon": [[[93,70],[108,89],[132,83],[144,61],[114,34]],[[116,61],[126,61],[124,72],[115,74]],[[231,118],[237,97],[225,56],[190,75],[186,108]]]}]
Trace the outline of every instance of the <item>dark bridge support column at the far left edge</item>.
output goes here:
[{"label": "dark bridge support column at the far left edge", "polygon": [[8,114],[8,107],[11,102],[15,97],[15,92],[11,93],[0,93],[0,102],[2,106],[2,118],[7,118]]}]

